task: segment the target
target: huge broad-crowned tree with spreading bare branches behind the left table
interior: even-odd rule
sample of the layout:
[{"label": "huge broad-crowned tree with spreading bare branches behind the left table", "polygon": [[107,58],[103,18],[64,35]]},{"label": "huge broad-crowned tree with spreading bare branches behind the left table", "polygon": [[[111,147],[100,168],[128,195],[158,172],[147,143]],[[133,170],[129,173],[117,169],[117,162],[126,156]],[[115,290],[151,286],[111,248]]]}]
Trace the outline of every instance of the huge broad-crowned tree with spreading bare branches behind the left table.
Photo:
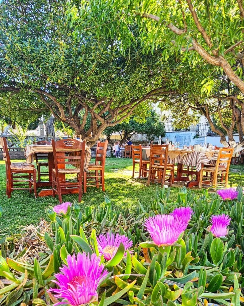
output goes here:
[{"label": "huge broad-crowned tree with spreading bare branches behind the left table", "polygon": [[15,97],[17,111],[48,110],[94,142],[174,90],[167,76],[177,71],[175,56],[145,54],[138,25],[109,4],[10,0],[0,12],[0,91]]}]

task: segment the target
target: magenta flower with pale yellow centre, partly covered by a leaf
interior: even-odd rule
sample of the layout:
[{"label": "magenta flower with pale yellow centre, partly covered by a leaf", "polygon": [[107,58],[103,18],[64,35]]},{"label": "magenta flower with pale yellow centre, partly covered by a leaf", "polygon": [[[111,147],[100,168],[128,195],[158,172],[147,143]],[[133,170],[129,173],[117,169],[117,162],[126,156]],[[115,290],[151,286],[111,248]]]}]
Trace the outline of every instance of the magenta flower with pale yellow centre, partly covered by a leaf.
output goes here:
[{"label": "magenta flower with pale yellow centre, partly covered by a leaf", "polygon": [[121,242],[124,244],[125,250],[131,248],[133,244],[128,237],[120,235],[119,233],[117,233],[116,236],[114,233],[107,233],[106,236],[100,234],[97,238],[100,255],[103,254],[106,260],[110,260],[117,252]]}]

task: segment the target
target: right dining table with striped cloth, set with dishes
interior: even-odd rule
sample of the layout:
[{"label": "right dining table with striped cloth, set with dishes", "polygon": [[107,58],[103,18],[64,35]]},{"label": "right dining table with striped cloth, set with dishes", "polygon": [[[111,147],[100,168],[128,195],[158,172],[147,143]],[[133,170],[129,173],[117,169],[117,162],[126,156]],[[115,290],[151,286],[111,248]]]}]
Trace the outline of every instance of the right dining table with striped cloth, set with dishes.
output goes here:
[{"label": "right dining table with striped cloth, set with dishes", "polygon": [[[174,181],[187,181],[187,187],[193,187],[199,185],[200,171],[203,165],[216,164],[217,157],[218,150],[196,151],[191,149],[174,149],[168,150],[167,162],[177,164],[177,174],[174,177]],[[150,147],[142,147],[142,160],[149,161],[149,159]],[[189,166],[189,169],[184,169],[184,166]],[[192,170],[192,168],[194,169]],[[186,174],[186,176],[183,176],[183,174]],[[190,180],[189,175],[196,175],[196,179]]]}]

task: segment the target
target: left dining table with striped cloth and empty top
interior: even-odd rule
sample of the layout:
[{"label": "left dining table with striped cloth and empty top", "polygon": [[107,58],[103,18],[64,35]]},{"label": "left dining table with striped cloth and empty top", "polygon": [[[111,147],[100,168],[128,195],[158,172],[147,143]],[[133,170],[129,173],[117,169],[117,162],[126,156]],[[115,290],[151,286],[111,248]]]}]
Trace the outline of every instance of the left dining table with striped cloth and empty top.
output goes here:
[{"label": "left dining table with striped cloth and empty top", "polygon": [[[58,149],[57,152],[63,152],[63,154],[69,153],[75,155],[75,152],[80,151],[79,149],[69,149],[66,148]],[[48,181],[37,182],[37,188],[52,186],[52,169],[55,168],[54,158],[53,158],[53,148],[52,145],[41,145],[41,144],[27,144],[25,147],[24,155],[27,163],[32,163],[35,160],[35,154],[46,153],[48,155]],[[87,171],[88,166],[91,161],[91,149],[90,147],[85,147],[84,156],[84,171]],[[51,196],[52,189],[42,189],[38,196]]]}]

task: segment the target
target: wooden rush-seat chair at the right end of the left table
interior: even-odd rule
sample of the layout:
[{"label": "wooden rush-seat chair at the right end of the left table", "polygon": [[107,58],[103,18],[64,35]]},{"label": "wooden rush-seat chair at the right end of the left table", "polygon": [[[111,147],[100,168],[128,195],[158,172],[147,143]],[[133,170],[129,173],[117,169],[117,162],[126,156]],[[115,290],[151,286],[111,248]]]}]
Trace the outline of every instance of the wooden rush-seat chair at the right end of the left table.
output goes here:
[{"label": "wooden rush-seat chair at the right end of the left table", "polygon": [[87,172],[84,171],[84,192],[86,192],[87,187],[92,186],[96,186],[97,188],[102,186],[102,191],[105,191],[104,170],[107,147],[108,140],[97,143],[95,164],[90,164]]}]

